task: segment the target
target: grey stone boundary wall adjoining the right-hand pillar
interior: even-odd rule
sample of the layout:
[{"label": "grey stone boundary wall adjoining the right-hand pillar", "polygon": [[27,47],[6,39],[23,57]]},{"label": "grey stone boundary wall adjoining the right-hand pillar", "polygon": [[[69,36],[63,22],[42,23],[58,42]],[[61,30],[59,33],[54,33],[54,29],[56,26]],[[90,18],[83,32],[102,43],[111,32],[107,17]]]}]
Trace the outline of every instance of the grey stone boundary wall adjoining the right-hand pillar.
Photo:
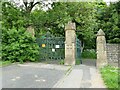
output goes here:
[{"label": "grey stone boundary wall adjoining the right-hand pillar", "polygon": [[120,44],[106,44],[107,61],[109,65],[118,66]]}]

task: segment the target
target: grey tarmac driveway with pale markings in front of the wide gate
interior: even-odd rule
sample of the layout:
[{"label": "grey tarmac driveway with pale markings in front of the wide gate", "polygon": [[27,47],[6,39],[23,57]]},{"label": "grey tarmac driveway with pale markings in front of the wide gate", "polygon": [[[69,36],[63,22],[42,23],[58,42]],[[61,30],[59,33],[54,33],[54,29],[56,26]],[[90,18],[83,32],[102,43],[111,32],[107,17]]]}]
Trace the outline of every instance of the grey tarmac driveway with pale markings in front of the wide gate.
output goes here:
[{"label": "grey tarmac driveway with pale markings in front of the wide gate", "polygon": [[2,68],[2,88],[52,88],[70,66],[42,63],[14,64]]}]

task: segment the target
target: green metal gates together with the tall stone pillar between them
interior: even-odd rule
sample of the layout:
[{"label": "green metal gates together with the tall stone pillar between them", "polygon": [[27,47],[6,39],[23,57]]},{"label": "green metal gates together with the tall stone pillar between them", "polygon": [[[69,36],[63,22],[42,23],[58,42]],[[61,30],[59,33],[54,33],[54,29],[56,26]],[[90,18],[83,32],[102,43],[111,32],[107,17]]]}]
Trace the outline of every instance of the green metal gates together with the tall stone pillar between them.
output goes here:
[{"label": "green metal gates together with the tall stone pillar between them", "polygon": [[65,37],[56,37],[47,32],[37,38],[39,60],[64,60],[65,65],[75,65],[76,60],[81,60],[81,42],[75,30],[75,23],[69,22],[65,27]]}]

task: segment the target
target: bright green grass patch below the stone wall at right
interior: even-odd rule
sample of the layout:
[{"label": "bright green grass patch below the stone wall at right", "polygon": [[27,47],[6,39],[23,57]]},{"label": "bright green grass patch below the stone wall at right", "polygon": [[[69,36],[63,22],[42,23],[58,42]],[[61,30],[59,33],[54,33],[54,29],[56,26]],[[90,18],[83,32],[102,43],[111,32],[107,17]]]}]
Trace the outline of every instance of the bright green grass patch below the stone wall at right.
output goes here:
[{"label": "bright green grass patch below the stone wall at right", "polygon": [[118,80],[120,80],[119,70],[120,68],[112,66],[105,66],[100,69],[104,83],[109,90],[118,90]]}]

